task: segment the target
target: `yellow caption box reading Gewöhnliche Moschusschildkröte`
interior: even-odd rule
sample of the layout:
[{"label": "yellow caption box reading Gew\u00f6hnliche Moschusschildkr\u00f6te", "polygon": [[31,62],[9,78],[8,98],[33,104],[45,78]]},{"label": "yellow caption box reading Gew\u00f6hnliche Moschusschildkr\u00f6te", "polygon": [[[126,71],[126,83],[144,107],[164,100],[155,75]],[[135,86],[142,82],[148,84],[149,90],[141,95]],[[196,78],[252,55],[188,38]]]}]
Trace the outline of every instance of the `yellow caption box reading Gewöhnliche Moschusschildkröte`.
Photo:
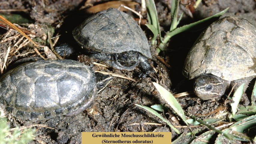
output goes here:
[{"label": "yellow caption box reading Gew\u00f6hnliche Moschusschildkr\u00f6te", "polygon": [[82,132],[82,144],[171,144],[171,132]]}]

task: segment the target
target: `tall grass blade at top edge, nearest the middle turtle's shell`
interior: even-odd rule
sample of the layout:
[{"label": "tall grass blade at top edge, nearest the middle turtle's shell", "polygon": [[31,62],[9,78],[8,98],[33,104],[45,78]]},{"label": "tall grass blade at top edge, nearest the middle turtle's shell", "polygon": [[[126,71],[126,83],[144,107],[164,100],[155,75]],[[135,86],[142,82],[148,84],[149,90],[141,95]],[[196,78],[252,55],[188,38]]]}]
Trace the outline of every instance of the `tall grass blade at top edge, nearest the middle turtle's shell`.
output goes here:
[{"label": "tall grass blade at top edge, nearest the middle turtle's shell", "polygon": [[152,24],[157,29],[159,37],[160,37],[160,41],[162,41],[160,26],[159,26],[159,22],[158,22],[158,15],[157,15],[154,0],[146,0],[146,6],[147,6],[147,11],[148,11],[147,15],[149,16],[149,19],[151,21],[151,23],[149,23],[149,24]]}]

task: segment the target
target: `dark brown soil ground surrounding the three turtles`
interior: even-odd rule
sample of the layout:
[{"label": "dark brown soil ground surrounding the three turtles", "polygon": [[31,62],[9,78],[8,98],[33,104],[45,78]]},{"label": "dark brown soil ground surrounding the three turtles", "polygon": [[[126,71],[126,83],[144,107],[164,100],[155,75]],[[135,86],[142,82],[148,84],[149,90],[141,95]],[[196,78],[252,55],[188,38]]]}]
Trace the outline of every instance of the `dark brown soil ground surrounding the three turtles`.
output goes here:
[{"label": "dark brown soil ground surrounding the three turtles", "polygon": [[[84,7],[85,2],[86,1],[83,0],[0,0],[0,9],[26,9],[27,11],[23,12],[16,11],[1,13],[22,14],[34,23],[34,25],[31,26],[31,29],[35,29],[35,31],[37,26],[44,28],[48,27],[48,30],[54,29],[54,32],[52,31],[51,33],[52,36],[61,35],[55,47],[60,46],[63,43],[72,45],[76,49],[74,50],[74,54],[68,58],[77,60],[77,55],[84,54],[85,52],[79,48],[72,38],[72,30],[90,15],[85,14],[84,9],[80,10],[81,7]],[[95,5],[104,2],[105,0],[90,0],[89,4]],[[140,3],[140,1],[137,2]],[[181,1],[182,4],[187,4],[189,2],[189,0]],[[159,14],[161,29],[163,31],[167,31],[170,27],[169,13],[171,0],[158,0],[155,1],[155,3]],[[239,16],[248,19],[248,21],[254,24],[254,26],[256,25],[256,2],[254,0],[203,0],[197,9],[188,8],[188,6],[182,4],[179,7],[180,10],[178,15],[180,15],[181,12],[184,12],[184,15],[179,26],[211,16],[221,10],[224,10],[226,7],[230,7],[230,9],[224,14],[224,16]],[[140,10],[140,7],[136,7],[136,9]],[[131,12],[128,13],[132,14]],[[193,16],[193,18],[191,16]],[[30,27],[28,26],[28,28]],[[146,26],[141,26],[141,28],[146,32],[147,38],[149,39],[152,36],[151,32],[146,29]],[[1,35],[5,35],[7,31],[5,29],[0,29],[0,32]],[[187,52],[194,44],[200,32],[202,32],[202,30],[196,32],[184,32],[176,35],[170,40],[167,51],[160,52],[158,57],[152,53],[153,58],[150,62],[157,70],[159,84],[173,94],[192,90],[192,81],[189,81],[182,76],[182,68]],[[41,45],[47,45],[47,35],[43,31],[37,32],[37,34],[41,34],[42,38],[42,41],[39,41],[38,43]],[[1,39],[1,41],[2,40],[3,39]],[[10,41],[9,44],[14,45],[15,41]],[[27,48],[26,46],[25,48],[21,48],[18,51],[18,54],[32,52],[33,49],[29,48],[29,46],[31,45],[28,44]],[[39,51],[43,52],[42,49],[39,49]],[[155,48],[151,48],[151,52],[154,51]],[[20,57],[12,55],[8,61],[11,63],[17,59],[32,56],[34,54]],[[170,65],[170,67],[167,67],[167,65],[159,61],[159,59],[164,60],[168,65]],[[16,120],[16,123],[14,121],[10,121],[11,126],[44,124],[50,128],[54,128],[38,128],[38,131],[36,131],[36,138],[31,142],[49,144],[81,143],[81,132],[172,131],[157,117],[134,106],[134,104],[145,106],[166,104],[152,84],[152,81],[155,81],[154,79],[149,77],[145,79],[137,78],[139,69],[135,69],[134,71],[121,71],[107,69],[100,66],[94,66],[93,69],[134,78],[136,82],[115,77],[109,86],[97,96],[92,107],[77,116],[60,116],[49,120],[35,122]],[[201,100],[195,95],[188,95],[177,98],[177,100],[185,112],[200,116],[202,119],[223,118],[224,116],[221,115],[221,113],[228,109],[222,105],[224,98]],[[175,126],[185,125],[185,123],[173,113],[166,113],[164,116]],[[162,125],[149,125],[147,123]],[[178,129],[181,132],[189,131],[187,128]],[[177,138],[177,135],[173,132],[172,137],[174,140]]]}]

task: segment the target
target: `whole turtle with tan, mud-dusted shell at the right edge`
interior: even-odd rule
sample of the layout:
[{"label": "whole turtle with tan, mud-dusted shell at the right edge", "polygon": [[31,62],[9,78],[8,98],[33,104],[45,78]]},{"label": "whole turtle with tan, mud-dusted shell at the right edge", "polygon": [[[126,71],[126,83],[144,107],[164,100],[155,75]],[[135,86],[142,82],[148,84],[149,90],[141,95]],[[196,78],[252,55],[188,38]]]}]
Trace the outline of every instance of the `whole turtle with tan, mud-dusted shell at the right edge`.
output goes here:
[{"label": "whole turtle with tan, mud-dusted shell at the right edge", "polygon": [[[212,23],[185,59],[183,75],[195,79],[194,93],[203,100],[219,98],[256,77],[256,28],[245,19],[227,16]],[[249,104],[243,93],[242,101]]]}]

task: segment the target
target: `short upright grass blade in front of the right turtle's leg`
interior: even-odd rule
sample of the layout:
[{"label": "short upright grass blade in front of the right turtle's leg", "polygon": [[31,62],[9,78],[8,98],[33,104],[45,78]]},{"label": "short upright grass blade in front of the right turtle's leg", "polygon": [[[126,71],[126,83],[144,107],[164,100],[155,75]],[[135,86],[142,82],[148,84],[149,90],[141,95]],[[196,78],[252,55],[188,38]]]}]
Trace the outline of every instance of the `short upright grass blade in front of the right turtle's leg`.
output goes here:
[{"label": "short upright grass blade in front of the right turtle's leg", "polygon": [[237,88],[237,90],[235,91],[234,95],[233,95],[233,98],[232,98],[232,99],[233,99],[234,102],[230,104],[231,110],[232,110],[231,118],[232,118],[233,116],[235,116],[235,114],[236,114],[239,101],[241,100],[242,95],[243,95],[244,85],[245,85],[245,83],[243,83],[242,85],[240,85],[240,86]]}]

